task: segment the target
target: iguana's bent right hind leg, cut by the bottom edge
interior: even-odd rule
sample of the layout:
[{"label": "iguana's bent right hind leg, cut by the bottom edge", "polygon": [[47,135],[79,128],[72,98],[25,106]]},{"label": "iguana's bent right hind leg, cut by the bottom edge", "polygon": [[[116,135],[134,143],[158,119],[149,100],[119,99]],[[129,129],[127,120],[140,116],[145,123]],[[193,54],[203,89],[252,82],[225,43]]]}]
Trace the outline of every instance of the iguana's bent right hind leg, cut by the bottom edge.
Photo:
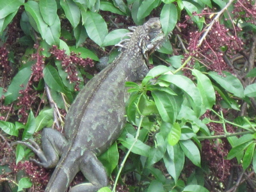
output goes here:
[{"label": "iguana's bent right hind leg, cut by the bottom edge", "polygon": [[95,192],[108,186],[108,176],[105,168],[93,152],[84,152],[79,168],[89,182],[74,186],[70,192]]}]

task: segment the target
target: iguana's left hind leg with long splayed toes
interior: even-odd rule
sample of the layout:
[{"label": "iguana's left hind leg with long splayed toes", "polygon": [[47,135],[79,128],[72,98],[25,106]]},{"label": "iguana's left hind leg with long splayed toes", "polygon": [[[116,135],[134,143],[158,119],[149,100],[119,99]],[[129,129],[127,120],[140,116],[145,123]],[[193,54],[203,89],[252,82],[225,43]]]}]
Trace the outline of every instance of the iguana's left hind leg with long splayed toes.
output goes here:
[{"label": "iguana's left hind leg with long splayed toes", "polygon": [[67,145],[66,138],[60,132],[51,128],[45,128],[42,131],[42,149],[33,140],[28,140],[28,142],[16,141],[12,145],[22,144],[33,150],[40,161],[35,159],[31,159],[31,161],[44,166],[44,168],[56,167],[63,153],[63,148]]}]

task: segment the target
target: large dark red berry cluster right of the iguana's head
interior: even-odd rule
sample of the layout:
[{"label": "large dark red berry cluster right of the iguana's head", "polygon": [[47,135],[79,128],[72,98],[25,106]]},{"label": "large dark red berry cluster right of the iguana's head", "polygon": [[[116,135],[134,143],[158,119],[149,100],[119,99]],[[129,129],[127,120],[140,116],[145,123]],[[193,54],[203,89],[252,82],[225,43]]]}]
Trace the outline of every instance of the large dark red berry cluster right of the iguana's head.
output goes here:
[{"label": "large dark red berry cluster right of the iguana's head", "polygon": [[[211,13],[207,13],[206,10],[200,14],[200,17],[202,17],[202,15],[205,15],[205,22],[207,23],[211,23],[214,18],[210,17]],[[243,49],[243,42],[236,35],[236,31],[240,31],[240,28],[234,27],[234,29],[228,29],[225,25],[220,24],[220,22],[215,22],[202,44],[198,46],[205,30],[195,30],[195,24],[193,24],[193,22],[191,23],[191,20],[189,19],[186,19],[186,21],[179,26],[186,30],[188,28],[191,29],[189,33],[185,32],[184,34],[188,41],[187,49],[189,54],[187,57],[193,56],[195,60],[200,61],[200,63],[205,65],[209,70],[218,72],[221,72],[221,70],[230,70],[223,59],[223,55],[226,54],[229,56],[230,54],[236,54],[236,52]],[[190,64],[193,65],[193,60]]]}]

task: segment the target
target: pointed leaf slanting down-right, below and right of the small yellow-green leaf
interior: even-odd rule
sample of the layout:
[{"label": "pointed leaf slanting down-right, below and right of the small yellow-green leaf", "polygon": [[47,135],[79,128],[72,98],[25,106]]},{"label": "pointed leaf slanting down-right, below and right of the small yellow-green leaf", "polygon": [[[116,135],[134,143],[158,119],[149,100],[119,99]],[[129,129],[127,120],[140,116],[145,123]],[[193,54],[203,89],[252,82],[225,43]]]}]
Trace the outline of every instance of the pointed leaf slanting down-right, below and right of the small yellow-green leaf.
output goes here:
[{"label": "pointed leaf slanting down-right, below and right of the small yellow-green leaf", "polygon": [[184,151],[184,154],[190,159],[190,161],[192,161],[192,163],[196,166],[201,167],[201,156],[195,143],[193,143],[191,140],[179,141],[179,143],[180,147]]}]

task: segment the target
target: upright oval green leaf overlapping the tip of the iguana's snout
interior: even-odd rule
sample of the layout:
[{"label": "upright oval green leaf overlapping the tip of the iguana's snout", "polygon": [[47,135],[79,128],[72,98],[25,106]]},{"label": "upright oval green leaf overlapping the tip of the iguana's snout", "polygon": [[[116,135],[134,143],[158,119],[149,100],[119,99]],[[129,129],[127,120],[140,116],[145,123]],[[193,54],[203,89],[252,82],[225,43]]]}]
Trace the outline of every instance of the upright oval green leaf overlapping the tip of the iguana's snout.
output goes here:
[{"label": "upright oval green leaf overlapping the tip of the iguana's snout", "polygon": [[164,4],[160,20],[165,35],[168,35],[177,23],[178,13],[175,4]]}]

